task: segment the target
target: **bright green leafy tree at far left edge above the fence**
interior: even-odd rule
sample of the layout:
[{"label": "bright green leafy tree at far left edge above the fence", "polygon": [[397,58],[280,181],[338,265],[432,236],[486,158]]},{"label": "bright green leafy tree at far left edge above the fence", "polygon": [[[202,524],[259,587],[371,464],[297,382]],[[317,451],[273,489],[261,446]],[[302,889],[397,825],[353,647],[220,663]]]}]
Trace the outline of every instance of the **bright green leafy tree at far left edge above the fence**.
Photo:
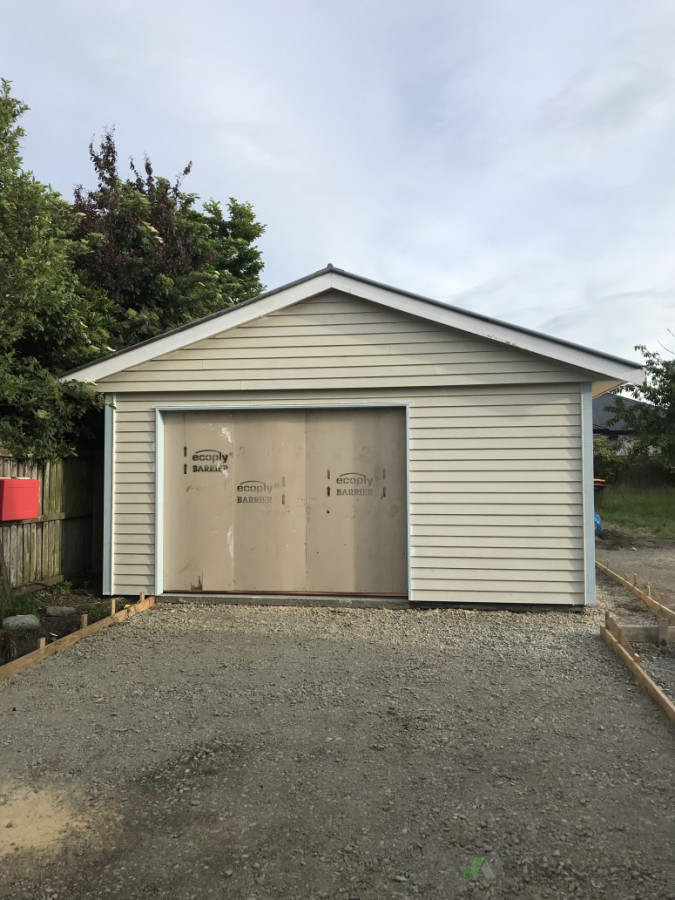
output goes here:
[{"label": "bright green leafy tree at far left edge above the fence", "polygon": [[28,109],[0,88],[0,444],[15,456],[74,452],[100,405],[84,385],[61,384],[64,368],[100,355],[103,331],[73,272],[68,203],[23,170],[18,120]]}]

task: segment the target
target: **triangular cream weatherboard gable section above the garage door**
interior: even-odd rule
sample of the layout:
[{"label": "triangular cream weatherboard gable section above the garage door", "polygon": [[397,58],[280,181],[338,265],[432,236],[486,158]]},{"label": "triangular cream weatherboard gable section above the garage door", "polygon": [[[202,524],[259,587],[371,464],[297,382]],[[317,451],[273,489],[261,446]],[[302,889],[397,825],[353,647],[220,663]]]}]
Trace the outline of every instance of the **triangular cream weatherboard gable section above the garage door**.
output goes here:
[{"label": "triangular cream weatherboard gable section above the garage door", "polygon": [[580,380],[550,359],[330,292],[111,375],[100,386],[122,393]]}]

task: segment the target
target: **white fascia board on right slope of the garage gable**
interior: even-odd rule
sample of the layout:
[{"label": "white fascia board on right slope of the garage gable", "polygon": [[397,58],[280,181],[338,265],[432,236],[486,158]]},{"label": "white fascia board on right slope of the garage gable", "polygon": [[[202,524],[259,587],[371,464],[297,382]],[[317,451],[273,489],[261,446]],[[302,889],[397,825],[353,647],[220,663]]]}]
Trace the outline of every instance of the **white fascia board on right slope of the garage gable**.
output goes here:
[{"label": "white fascia board on right slope of the garage gable", "polygon": [[375,285],[359,284],[358,287],[355,287],[352,279],[345,278],[339,273],[333,275],[333,281],[333,287],[344,293],[354,294],[364,300],[370,300],[373,303],[379,303],[382,306],[388,306],[421,319],[428,319],[441,325],[447,325],[448,328],[456,328],[458,331],[464,331],[489,341],[497,341],[500,344],[506,344],[518,350],[536,353],[539,356],[545,356],[547,359],[556,360],[564,365],[583,369],[585,372],[598,372],[601,375],[612,376],[615,379],[619,379],[620,383],[626,381],[635,383],[636,380],[638,383],[641,383],[644,378],[644,372],[641,368],[636,368],[629,363],[621,363],[619,360],[607,359],[605,356],[600,356],[591,350],[584,350],[581,347],[568,347],[565,344],[559,344],[557,341],[544,335],[524,334],[522,331],[510,328],[508,325],[503,325],[499,322],[486,322],[483,319],[472,316],[471,313],[461,312],[452,308],[444,309],[435,303],[425,303],[423,300],[406,297],[405,294],[387,291]]}]

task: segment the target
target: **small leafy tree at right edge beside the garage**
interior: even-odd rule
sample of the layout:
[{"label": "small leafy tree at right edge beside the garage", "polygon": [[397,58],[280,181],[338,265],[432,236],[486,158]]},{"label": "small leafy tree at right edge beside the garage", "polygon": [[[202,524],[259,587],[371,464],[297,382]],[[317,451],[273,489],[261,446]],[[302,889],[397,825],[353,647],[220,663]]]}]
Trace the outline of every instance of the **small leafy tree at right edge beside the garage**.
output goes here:
[{"label": "small leafy tree at right edge beside the garage", "polygon": [[609,424],[626,422],[635,432],[632,450],[636,454],[658,452],[665,465],[675,468],[675,359],[664,359],[643,345],[635,349],[645,357],[647,377],[643,385],[624,390],[645,405],[628,406],[615,396],[614,403],[607,404],[613,413]]}]

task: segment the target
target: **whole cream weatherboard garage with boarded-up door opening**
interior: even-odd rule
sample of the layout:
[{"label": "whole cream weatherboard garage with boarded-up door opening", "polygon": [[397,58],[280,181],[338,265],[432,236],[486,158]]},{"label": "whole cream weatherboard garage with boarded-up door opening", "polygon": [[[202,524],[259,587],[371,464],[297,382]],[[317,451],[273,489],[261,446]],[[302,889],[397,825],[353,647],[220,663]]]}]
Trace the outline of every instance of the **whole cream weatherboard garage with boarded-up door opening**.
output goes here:
[{"label": "whole cream weatherboard garage with boarded-up door opening", "polygon": [[592,397],[642,377],[328,266],[64,376],[106,397],[104,590],[592,604]]}]

